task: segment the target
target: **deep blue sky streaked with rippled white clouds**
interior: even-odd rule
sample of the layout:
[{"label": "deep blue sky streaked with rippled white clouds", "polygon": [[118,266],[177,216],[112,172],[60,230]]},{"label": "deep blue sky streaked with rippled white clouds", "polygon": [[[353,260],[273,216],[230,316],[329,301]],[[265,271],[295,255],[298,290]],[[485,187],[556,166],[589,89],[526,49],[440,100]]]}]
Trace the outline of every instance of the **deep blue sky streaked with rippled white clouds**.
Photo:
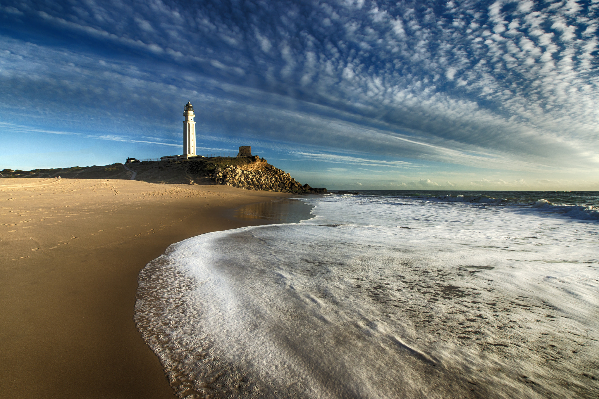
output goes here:
[{"label": "deep blue sky streaked with rippled white clouds", "polygon": [[599,0],[0,0],[0,169],[240,145],[312,187],[598,190]]}]

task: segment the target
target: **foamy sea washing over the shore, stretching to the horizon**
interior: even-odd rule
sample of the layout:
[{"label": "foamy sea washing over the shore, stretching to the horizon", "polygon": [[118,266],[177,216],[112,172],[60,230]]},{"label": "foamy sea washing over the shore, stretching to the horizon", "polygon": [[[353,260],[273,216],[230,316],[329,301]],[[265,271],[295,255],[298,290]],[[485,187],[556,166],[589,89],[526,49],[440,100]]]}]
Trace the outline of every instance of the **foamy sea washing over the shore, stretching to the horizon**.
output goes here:
[{"label": "foamy sea washing over the shore, stretching to the horizon", "polygon": [[599,397],[599,192],[290,201],[140,273],[178,397]]}]

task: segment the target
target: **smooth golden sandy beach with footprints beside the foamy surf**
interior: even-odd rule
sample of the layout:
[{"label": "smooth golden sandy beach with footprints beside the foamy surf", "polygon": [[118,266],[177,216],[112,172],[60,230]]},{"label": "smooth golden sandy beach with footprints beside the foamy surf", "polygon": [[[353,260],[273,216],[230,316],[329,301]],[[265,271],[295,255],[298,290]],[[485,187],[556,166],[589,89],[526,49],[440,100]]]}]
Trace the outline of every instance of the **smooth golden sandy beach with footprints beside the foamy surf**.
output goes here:
[{"label": "smooth golden sandy beach with footprints beside the foamy surf", "polygon": [[288,197],[214,185],[0,180],[0,397],[173,398],[133,321],[137,276],[168,245],[271,223],[231,209]]}]

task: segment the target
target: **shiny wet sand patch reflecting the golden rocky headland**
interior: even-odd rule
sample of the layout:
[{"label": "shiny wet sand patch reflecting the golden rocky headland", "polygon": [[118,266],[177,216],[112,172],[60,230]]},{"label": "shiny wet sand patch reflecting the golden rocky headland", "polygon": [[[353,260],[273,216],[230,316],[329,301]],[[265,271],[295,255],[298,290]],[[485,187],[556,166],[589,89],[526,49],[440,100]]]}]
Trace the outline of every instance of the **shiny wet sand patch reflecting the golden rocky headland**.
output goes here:
[{"label": "shiny wet sand patch reflecting the golden rocky headland", "polygon": [[298,223],[313,217],[313,206],[297,199],[258,202],[233,209],[232,216],[240,219],[263,220],[264,224]]}]

